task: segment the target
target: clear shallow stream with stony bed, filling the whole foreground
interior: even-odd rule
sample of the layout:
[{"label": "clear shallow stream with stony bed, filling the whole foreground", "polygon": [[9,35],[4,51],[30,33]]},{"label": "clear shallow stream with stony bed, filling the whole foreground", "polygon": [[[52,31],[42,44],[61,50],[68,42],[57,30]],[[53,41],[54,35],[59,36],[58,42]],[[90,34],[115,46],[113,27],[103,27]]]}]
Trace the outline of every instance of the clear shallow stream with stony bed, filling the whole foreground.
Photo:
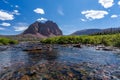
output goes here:
[{"label": "clear shallow stream with stony bed, filling the whole foreground", "polygon": [[0,80],[120,80],[120,53],[95,47],[0,51]]}]

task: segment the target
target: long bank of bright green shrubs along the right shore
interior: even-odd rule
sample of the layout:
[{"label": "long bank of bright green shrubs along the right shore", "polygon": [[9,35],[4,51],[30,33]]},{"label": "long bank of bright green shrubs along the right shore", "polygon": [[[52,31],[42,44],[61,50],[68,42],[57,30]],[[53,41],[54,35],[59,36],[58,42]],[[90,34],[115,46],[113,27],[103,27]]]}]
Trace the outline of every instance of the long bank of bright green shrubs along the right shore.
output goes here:
[{"label": "long bank of bright green shrubs along the right shore", "polygon": [[47,44],[103,44],[105,46],[120,47],[120,34],[109,35],[85,35],[85,36],[58,36],[44,39],[42,43]]}]

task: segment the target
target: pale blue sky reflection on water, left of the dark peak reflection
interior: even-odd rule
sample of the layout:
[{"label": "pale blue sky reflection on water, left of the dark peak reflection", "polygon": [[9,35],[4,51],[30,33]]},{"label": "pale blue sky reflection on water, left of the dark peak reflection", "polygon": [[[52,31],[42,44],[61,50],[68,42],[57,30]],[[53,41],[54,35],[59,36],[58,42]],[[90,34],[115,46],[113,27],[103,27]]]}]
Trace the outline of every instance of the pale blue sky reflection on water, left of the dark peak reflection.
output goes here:
[{"label": "pale blue sky reflection on water, left of the dark peak reflection", "polygon": [[0,52],[0,71],[8,68],[19,68],[27,63],[27,55],[22,51],[6,50]]}]

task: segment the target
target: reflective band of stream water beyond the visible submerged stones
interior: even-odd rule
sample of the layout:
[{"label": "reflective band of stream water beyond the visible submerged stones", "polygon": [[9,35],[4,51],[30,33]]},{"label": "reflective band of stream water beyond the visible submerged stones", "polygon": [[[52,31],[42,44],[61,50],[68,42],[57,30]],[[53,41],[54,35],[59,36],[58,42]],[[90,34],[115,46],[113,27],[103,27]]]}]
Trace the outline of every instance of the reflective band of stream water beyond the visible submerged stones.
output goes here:
[{"label": "reflective band of stream water beyond the visible submerged stones", "polygon": [[[0,52],[0,71],[7,69],[30,67],[36,64],[61,62],[69,64],[90,63],[94,68],[110,67],[114,71],[120,70],[120,54],[113,51],[98,51],[95,47],[73,48],[57,46],[58,49],[42,52],[24,52],[21,49],[9,48]],[[101,66],[99,66],[101,65]],[[107,68],[105,68],[107,70]]]}]

